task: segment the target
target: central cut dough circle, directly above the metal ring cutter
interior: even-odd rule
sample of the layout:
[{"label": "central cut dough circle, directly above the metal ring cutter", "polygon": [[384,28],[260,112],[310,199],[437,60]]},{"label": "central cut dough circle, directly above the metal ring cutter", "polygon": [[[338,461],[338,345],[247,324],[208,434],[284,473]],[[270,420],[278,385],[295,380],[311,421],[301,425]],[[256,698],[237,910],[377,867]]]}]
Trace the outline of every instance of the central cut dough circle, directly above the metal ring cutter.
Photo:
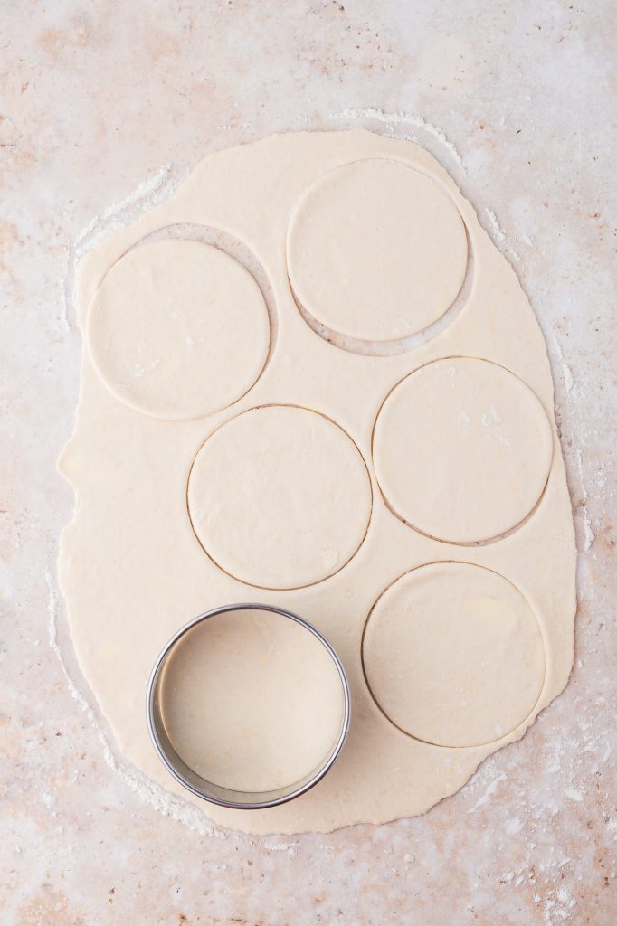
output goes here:
[{"label": "central cut dough circle, directly above the metal ring cutter", "polygon": [[251,408],[202,444],[187,503],[199,543],[234,578],[300,588],[342,569],[371,519],[359,449],[318,412]]}]

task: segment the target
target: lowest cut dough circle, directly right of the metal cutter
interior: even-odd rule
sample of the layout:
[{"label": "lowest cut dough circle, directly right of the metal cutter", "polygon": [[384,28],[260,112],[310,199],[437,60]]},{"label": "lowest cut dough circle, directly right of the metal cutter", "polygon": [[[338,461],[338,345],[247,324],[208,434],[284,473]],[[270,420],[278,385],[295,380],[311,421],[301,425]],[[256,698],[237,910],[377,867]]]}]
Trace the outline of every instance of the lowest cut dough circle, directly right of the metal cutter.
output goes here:
[{"label": "lowest cut dough circle, directly right of the metal cutter", "polygon": [[515,730],[545,675],[523,595],[468,563],[431,563],[391,585],[367,621],[362,661],[388,720],[440,746],[484,745]]}]

